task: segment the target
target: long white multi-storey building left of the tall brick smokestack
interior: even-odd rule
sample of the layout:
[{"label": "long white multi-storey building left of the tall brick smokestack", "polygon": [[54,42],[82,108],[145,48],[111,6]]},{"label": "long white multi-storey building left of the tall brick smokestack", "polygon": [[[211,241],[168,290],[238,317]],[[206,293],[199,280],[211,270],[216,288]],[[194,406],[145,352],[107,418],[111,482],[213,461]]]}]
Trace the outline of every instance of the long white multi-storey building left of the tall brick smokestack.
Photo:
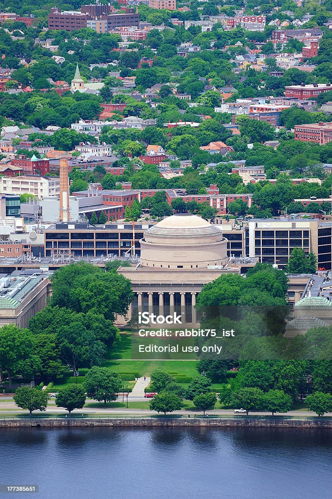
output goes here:
[{"label": "long white multi-storey building left of the tall brick smokestack", "polygon": [[0,192],[6,194],[33,194],[38,198],[56,197],[60,192],[60,181],[55,177],[21,175],[0,177]]}]

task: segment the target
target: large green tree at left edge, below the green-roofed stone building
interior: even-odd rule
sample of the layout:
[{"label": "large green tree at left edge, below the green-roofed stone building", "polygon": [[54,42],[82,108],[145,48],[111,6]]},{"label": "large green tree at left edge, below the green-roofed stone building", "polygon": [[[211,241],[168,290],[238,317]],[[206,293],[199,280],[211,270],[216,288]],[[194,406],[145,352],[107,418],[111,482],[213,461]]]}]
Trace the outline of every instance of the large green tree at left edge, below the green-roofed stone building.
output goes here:
[{"label": "large green tree at left edge, below the green-roofed stone building", "polygon": [[14,324],[0,328],[0,380],[7,371],[8,388],[11,389],[12,373],[19,361],[26,360],[32,352],[32,334],[28,329],[19,329]]}]

